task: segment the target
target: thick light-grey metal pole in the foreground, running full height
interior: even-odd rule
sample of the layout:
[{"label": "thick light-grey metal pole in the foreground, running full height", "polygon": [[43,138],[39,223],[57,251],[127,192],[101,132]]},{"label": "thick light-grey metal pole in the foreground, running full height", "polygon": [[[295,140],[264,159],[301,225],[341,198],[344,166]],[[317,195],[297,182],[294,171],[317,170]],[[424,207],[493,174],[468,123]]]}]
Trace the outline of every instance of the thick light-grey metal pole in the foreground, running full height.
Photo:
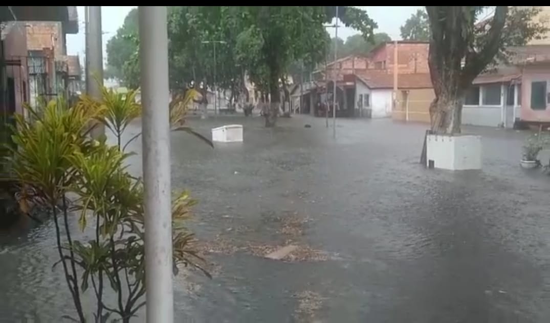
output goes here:
[{"label": "thick light-grey metal pole in the foreground, running full height", "polygon": [[139,7],[147,322],[173,323],[166,7]]}]

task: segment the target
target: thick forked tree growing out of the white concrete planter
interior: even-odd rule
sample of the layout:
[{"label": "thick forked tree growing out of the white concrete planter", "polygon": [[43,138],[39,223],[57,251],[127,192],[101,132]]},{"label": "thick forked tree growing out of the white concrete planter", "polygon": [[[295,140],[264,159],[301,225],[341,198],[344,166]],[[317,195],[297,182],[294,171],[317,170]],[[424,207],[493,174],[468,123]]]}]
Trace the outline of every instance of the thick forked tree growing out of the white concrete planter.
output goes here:
[{"label": "thick forked tree growing out of the white concrete planter", "polygon": [[426,7],[428,64],[436,97],[430,105],[432,131],[460,133],[464,97],[474,78],[492,63],[505,63],[508,46],[523,46],[548,30],[533,19],[541,10],[537,7],[497,6],[492,17],[476,22],[484,9]]}]

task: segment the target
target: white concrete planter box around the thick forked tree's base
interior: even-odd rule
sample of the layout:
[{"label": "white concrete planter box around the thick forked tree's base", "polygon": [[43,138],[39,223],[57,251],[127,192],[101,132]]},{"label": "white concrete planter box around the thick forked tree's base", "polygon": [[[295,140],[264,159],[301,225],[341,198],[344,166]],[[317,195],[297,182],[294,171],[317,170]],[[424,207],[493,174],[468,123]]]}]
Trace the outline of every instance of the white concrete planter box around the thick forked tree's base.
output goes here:
[{"label": "white concrete planter box around the thick forked tree's base", "polygon": [[481,136],[428,134],[426,163],[450,171],[481,169]]}]

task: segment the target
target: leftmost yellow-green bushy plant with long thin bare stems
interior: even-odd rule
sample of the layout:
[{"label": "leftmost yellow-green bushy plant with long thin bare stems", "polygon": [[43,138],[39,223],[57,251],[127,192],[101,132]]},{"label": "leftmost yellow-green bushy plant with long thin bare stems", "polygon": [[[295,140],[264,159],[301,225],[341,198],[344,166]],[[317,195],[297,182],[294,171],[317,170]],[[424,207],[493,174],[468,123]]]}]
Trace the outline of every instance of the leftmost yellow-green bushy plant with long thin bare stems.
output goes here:
[{"label": "leftmost yellow-green bushy plant with long thin bare stems", "polygon": [[[100,115],[101,110],[84,109],[78,105],[69,108],[64,100],[50,101],[41,111],[30,106],[25,106],[25,109],[31,117],[15,116],[17,127],[12,129],[15,147],[9,148],[11,154],[7,160],[15,179],[24,187],[36,190],[52,210],[59,259],[79,320],[84,322],[74,243],[69,230],[69,210],[65,201],[76,179],[70,156],[78,151],[86,154],[94,149],[94,143],[87,138],[90,130],[87,122]],[[60,200],[63,201],[62,208],[58,207]],[[66,243],[62,242],[62,230],[65,231]]]}]

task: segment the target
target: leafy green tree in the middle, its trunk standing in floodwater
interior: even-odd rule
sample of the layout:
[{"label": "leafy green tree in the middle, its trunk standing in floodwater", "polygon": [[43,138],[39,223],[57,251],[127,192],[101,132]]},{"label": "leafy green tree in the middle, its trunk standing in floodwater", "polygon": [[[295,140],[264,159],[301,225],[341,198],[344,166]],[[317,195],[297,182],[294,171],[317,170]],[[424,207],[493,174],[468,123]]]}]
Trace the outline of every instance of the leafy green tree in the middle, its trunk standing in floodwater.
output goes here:
[{"label": "leafy green tree in the middle, its trunk standing in floodwater", "polygon": [[[239,7],[241,32],[237,36],[238,57],[251,80],[271,98],[265,109],[266,127],[274,126],[281,102],[280,88],[289,66],[301,60],[314,66],[325,59],[326,30],[323,24],[335,16],[335,7]],[[376,23],[353,7],[339,7],[338,18],[372,39]],[[267,93],[266,93],[267,91]]]}]

